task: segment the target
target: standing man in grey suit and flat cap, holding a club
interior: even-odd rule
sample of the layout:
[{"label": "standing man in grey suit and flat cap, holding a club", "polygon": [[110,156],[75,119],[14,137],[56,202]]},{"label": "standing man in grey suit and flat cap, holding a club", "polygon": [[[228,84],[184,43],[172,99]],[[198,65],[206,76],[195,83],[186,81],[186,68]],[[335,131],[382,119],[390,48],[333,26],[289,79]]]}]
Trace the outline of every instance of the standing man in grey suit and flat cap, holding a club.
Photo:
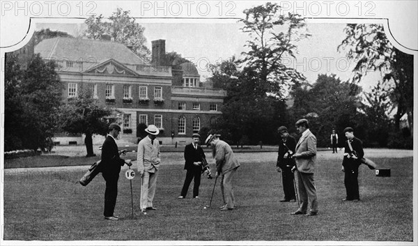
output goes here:
[{"label": "standing man in grey suit and flat cap, holding a club", "polygon": [[[314,216],[318,214],[318,200],[316,198],[316,188],[314,184],[314,168],[316,162],[316,137],[309,130],[307,119],[300,119],[296,122],[297,130],[302,133],[296,144],[296,151],[293,157],[296,166],[292,171],[296,171],[298,192],[300,194],[300,207],[292,215]],[[308,210],[308,203],[311,208]]]}]

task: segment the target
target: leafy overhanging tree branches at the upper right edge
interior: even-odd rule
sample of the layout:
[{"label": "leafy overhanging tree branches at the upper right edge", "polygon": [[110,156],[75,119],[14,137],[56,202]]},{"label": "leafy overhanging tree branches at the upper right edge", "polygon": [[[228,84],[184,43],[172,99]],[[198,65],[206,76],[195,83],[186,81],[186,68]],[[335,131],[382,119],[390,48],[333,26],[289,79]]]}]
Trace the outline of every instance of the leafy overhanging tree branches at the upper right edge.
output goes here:
[{"label": "leafy overhanging tree branches at the upper right edge", "polygon": [[413,132],[413,70],[414,60],[392,45],[381,24],[347,24],[346,38],[339,45],[348,59],[356,61],[353,82],[359,82],[368,71],[380,71],[383,82],[396,106],[395,125],[399,128],[401,117],[408,116],[411,134]]}]

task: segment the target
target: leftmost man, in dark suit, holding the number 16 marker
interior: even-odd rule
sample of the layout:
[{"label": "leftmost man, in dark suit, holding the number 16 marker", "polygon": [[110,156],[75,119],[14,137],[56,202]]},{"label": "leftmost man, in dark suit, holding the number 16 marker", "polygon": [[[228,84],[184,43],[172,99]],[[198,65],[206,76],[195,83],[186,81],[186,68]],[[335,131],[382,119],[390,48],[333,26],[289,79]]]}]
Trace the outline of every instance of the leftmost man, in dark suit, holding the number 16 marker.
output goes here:
[{"label": "leftmost man, in dark suit, holding the number 16 marker", "polygon": [[104,219],[118,220],[114,215],[116,197],[118,197],[118,179],[121,167],[126,163],[132,165],[130,160],[123,160],[119,157],[116,139],[121,127],[116,123],[109,125],[109,134],[107,134],[102,146],[102,176],[106,180],[106,190],[104,191]]}]

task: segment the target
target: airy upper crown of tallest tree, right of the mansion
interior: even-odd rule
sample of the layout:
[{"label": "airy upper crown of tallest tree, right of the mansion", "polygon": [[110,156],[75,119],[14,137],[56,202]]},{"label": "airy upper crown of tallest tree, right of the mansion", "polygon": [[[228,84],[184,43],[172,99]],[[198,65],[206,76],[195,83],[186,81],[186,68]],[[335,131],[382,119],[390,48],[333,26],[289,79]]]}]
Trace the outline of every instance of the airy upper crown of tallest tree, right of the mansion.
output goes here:
[{"label": "airy upper crown of tallest tree, right of the mansion", "polygon": [[242,31],[249,33],[251,38],[245,45],[249,50],[242,52],[242,63],[256,71],[262,91],[283,97],[286,84],[305,79],[294,68],[286,67],[283,61],[286,57],[295,58],[297,41],[310,35],[300,15],[280,15],[280,10],[277,3],[265,3],[244,10],[245,19],[240,22],[244,24]]}]

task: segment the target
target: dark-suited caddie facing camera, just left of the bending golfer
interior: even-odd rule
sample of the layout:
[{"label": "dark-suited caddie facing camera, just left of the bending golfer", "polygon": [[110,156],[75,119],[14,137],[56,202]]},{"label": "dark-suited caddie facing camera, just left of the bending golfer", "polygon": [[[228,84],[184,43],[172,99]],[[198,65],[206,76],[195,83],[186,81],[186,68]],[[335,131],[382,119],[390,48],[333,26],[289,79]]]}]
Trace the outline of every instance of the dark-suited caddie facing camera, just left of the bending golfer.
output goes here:
[{"label": "dark-suited caddie facing camera, just left of the bending golfer", "polygon": [[199,186],[201,181],[201,171],[202,171],[202,159],[206,158],[203,148],[199,145],[200,135],[193,134],[192,143],[187,144],[185,147],[185,170],[186,179],[181,190],[179,199],[186,197],[187,190],[189,190],[189,185],[192,183],[194,178],[194,187],[193,187],[193,198],[199,197]]}]

